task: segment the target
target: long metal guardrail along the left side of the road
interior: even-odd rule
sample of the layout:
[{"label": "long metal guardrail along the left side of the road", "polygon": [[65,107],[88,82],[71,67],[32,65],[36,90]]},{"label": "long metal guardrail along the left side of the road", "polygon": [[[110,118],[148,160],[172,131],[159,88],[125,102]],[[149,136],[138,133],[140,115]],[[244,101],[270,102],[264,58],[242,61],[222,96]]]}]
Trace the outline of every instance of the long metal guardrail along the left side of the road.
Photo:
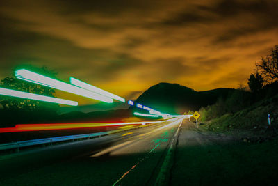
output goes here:
[{"label": "long metal guardrail along the left side of the road", "polygon": [[74,140],[74,139],[85,139],[90,137],[101,137],[105,136],[107,134],[111,134],[111,132],[97,132],[92,134],[78,134],[78,135],[70,135],[70,136],[63,136],[63,137],[50,137],[50,138],[44,138],[44,139],[32,139],[32,140],[26,140],[26,141],[17,141],[17,142],[11,142],[8,144],[0,144],[0,150],[8,150],[17,148],[17,151],[19,151],[19,148],[25,147],[25,146],[35,146],[40,144],[52,144],[58,141],[68,141],[68,140]]}]

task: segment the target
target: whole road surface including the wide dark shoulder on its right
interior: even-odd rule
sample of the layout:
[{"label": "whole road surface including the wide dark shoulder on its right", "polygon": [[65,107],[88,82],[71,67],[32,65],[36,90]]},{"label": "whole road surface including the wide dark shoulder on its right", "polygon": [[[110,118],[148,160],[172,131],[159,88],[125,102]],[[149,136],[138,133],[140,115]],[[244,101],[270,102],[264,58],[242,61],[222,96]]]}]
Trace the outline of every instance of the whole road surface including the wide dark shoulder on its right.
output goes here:
[{"label": "whole road surface including the wide dark shoulder on its right", "polygon": [[277,139],[246,143],[188,119],[0,156],[0,185],[277,185]]}]

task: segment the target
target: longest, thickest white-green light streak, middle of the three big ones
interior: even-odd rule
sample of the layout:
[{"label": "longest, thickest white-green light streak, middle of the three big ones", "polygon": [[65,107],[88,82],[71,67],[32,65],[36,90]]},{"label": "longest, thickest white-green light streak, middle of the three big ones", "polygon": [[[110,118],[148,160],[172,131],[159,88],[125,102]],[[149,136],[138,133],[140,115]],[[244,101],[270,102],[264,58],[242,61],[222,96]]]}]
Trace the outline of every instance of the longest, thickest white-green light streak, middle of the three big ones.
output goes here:
[{"label": "longest, thickest white-green light streak, middle of the three big ones", "polygon": [[76,95],[81,95],[85,98],[91,98],[94,100],[99,100],[102,102],[113,102],[112,98],[107,98],[104,95],[99,95],[97,93],[92,93],[91,91],[85,90],[78,86],[73,86],[71,84],[67,84],[65,82],[58,81],[56,79],[52,79],[50,77],[46,77],[44,75],[39,75],[35,72],[31,72],[29,70],[20,69],[15,71],[15,76],[17,79],[22,79],[27,82],[32,82],[35,84],[40,84],[42,86],[48,86],[51,88],[56,88],[60,91],[65,91],[68,93],[73,93]]}]

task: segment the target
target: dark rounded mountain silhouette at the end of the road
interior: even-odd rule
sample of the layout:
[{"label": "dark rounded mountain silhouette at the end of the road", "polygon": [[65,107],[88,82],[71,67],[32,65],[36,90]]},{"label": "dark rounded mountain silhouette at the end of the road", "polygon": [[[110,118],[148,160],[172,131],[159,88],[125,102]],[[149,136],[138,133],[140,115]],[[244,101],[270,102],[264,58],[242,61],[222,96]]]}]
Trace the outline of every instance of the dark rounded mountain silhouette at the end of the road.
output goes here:
[{"label": "dark rounded mountain silhouette at the end of the road", "polygon": [[214,104],[234,91],[233,88],[217,88],[198,92],[179,84],[159,83],[147,89],[135,102],[168,114],[183,114]]}]

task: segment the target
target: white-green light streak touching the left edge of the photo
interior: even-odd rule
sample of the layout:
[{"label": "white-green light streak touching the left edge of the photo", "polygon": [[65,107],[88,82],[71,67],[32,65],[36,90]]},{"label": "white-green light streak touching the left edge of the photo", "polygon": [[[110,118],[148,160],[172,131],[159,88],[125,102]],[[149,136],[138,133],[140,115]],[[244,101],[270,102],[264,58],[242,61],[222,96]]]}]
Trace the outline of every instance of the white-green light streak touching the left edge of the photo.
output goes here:
[{"label": "white-green light streak touching the left edge of the photo", "polygon": [[8,95],[16,98],[25,98],[29,100],[38,100],[42,102],[53,102],[58,104],[66,104],[70,106],[77,106],[78,102],[70,101],[70,100],[64,100],[60,98],[53,98],[45,95],[38,95],[35,93],[26,93],[22,91],[15,91],[10,90],[8,88],[0,88],[0,95]]}]

